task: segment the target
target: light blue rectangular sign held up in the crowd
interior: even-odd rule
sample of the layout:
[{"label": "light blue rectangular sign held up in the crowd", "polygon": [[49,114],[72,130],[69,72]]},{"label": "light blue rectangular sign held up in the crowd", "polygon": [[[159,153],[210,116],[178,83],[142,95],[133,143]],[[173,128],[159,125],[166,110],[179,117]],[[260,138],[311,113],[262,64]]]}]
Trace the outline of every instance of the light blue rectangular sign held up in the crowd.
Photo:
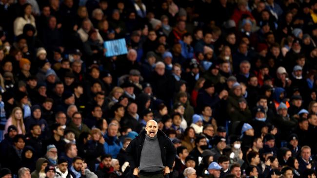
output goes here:
[{"label": "light blue rectangular sign held up in the crowd", "polygon": [[105,53],[106,57],[128,53],[128,49],[124,38],[105,41],[103,43],[103,46],[107,50],[107,52]]}]

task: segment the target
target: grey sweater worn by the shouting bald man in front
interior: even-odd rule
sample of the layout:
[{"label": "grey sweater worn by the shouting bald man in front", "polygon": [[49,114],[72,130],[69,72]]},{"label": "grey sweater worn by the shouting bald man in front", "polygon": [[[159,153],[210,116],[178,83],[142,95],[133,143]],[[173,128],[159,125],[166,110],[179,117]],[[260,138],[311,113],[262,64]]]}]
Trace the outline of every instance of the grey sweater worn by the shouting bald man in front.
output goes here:
[{"label": "grey sweater worn by the shouting bald man in front", "polygon": [[161,159],[161,150],[158,142],[158,135],[151,138],[145,134],[139,170],[144,172],[156,172],[164,169]]}]

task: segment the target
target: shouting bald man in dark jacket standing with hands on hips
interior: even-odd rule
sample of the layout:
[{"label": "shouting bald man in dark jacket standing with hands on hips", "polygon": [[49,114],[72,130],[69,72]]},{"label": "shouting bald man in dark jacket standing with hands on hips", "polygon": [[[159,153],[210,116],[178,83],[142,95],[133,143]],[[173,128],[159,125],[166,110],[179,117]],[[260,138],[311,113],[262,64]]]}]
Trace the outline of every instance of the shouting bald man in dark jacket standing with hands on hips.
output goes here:
[{"label": "shouting bald man in dark jacket standing with hands on hips", "polygon": [[176,156],[172,141],[158,130],[158,123],[154,120],[146,123],[145,130],[130,142],[126,151],[133,175],[140,174],[144,178],[153,175],[163,178],[169,174]]}]

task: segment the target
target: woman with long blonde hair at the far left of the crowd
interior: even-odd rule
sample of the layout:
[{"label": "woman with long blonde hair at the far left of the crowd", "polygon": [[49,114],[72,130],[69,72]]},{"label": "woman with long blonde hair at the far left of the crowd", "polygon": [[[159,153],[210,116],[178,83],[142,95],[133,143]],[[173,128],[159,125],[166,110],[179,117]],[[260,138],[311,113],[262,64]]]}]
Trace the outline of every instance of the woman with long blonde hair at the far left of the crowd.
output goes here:
[{"label": "woman with long blonde hair at the far left of the crowd", "polygon": [[25,126],[23,123],[23,112],[20,107],[13,108],[11,117],[7,120],[4,128],[4,134],[7,133],[8,127],[14,125],[18,129],[18,134],[25,135]]}]

